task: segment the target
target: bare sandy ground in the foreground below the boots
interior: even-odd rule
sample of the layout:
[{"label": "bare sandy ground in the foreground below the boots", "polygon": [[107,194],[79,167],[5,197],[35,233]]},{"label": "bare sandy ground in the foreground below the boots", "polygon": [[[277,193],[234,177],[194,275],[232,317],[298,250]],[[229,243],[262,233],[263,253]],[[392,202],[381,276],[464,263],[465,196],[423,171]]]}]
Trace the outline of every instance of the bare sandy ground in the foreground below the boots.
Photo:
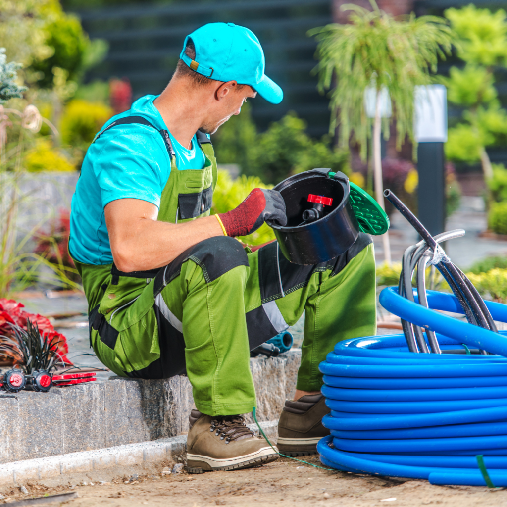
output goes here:
[{"label": "bare sandy ground in the foreground below the boots", "polygon": [[[319,463],[317,457],[309,461]],[[325,505],[364,507],[366,505],[442,505],[456,507],[507,506],[502,488],[432,486],[427,481],[358,476],[317,469],[293,460],[280,460],[257,468],[235,472],[208,472],[199,475],[140,476],[110,483],[48,488],[28,484],[27,494],[18,488],[4,489],[4,504],[34,496],[76,491],[78,498],[46,503],[51,507],[208,507],[214,505]],[[9,496],[7,496],[9,495]]]}]

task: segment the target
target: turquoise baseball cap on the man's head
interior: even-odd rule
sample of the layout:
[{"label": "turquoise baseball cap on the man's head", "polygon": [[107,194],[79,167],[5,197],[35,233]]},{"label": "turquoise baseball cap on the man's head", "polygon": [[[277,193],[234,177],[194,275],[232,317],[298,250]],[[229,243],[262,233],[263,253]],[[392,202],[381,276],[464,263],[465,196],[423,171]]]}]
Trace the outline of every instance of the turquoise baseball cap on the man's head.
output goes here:
[{"label": "turquoise baseball cap on the man's head", "polygon": [[[185,54],[192,39],[195,60]],[[217,81],[250,85],[272,104],[283,99],[282,89],[264,74],[264,51],[256,34],[234,23],[208,23],[187,35],[179,55],[192,70]]]}]

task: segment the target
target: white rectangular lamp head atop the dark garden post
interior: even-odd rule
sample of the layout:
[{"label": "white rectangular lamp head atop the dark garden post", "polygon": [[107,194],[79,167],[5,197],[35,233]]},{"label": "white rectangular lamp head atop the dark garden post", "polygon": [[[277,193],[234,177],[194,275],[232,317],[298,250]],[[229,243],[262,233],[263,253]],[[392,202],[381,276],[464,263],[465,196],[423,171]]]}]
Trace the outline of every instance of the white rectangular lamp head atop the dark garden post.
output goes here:
[{"label": "white rectangular lamp head atop the dark garden post", "polygon": [[447,90],[444,85],[416,86],[414,135],[417,142],[447,141]]}]

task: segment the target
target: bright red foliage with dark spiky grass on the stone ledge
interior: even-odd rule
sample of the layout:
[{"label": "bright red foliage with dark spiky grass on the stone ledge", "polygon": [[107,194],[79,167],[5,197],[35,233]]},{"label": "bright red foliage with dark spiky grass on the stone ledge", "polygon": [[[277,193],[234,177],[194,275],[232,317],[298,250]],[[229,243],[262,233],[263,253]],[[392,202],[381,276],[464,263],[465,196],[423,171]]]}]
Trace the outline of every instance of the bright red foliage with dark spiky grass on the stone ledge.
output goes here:
[{"label": "bright red foliage with dark spiky grass on the stone ledge", "polygon": [[[39,345],[40,352],[45,361],[56,367],[73,366],[67,357],[67,339],[57,333],[48,318],[40,314],[29,313],[23,310],[24,305],[13,299],[0,298],[0,361],[14,363],[15,367],[23,370],[31,368],[33,354],[24,354],[23,349]],[[31,371],[26,371],[31,373]]]}]

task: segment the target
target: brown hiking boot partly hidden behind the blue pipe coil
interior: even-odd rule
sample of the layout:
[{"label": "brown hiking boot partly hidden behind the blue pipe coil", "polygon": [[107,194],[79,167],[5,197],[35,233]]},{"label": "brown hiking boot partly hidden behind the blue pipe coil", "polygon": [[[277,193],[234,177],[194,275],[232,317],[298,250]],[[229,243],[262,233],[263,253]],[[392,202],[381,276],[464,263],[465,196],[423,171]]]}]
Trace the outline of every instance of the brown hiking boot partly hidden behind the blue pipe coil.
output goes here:
[{"label": "brown hiking boot partly hidden behind the blue pipe coil", "polygon": [[322,394],[307,394],[297,402],[285,401],[278,421],[277,447],[287,456],[316,454],[317,442],[330,434],[322,426],[322,417],[331,410],[325,406]]}]

